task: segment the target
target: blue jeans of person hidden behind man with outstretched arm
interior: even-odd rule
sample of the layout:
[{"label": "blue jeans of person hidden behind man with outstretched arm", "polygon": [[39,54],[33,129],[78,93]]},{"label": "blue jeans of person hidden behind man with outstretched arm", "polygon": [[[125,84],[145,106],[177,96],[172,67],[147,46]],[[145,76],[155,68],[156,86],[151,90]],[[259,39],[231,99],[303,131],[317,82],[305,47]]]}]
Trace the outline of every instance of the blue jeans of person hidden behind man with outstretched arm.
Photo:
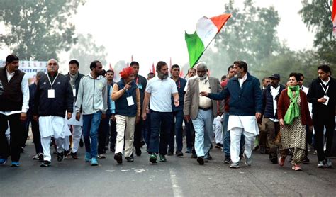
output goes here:
[{"label": "blue jeans of person hidden behind man with outstretched arm", "polygon": [[[230,157],[230,130],[228,130],[228,122],[229,122],[229,113],[224,112],[223,116],[223,152],[225,154],[225,157]],[[244,135],[242,135],[242,138],[240,138],[240,153],[242,154],[243,150],[242,147],[245,145],[245,139]]]}]

